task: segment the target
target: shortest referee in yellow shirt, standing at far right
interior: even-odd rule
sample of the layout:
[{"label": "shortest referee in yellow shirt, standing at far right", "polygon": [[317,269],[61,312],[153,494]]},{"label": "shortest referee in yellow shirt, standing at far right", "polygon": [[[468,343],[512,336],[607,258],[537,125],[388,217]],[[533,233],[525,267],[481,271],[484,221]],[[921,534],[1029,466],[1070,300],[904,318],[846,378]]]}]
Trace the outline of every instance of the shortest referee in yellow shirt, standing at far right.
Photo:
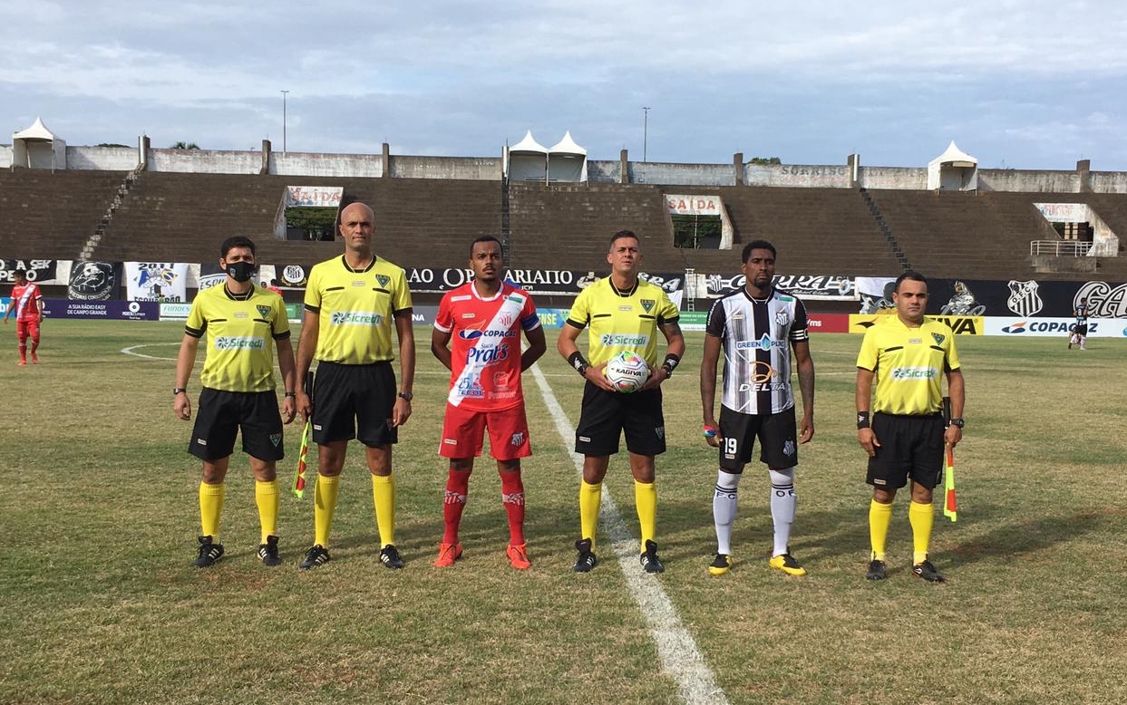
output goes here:
[{"label": "shortest referee in yellow shirt, standing at far right", "polygon": [[[885,544],[893,500],[911,478],[912,573],[929,582],[943,582],[943,575],[928,560],[934,519],[931,496],[942,475],[943,446],[953,448],[962,439],[962,372],[951,329],[924,319],[928,280],[923,275],[902,274],[896,279],[893,302],[896,315],[878,319],[866,331],[857,358],[857,439],[869,454],[867,482],[872,485],[872,553],[866,577],[888,577]],[[947,376],[951,398],[951,419],[946,428],[941,375]]]}]

